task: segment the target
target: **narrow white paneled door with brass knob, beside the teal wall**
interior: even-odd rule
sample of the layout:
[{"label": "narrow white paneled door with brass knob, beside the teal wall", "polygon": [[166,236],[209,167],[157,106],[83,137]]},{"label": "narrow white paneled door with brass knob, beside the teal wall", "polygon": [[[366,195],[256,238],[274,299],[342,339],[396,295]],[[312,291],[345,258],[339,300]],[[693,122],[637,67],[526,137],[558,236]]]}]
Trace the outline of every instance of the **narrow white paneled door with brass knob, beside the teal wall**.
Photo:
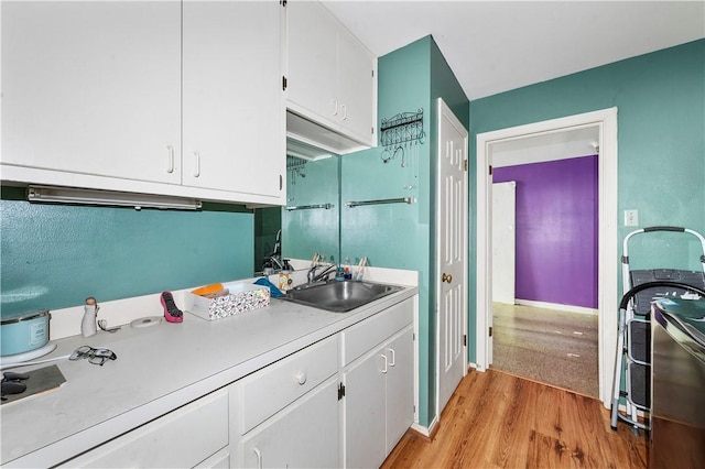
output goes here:
[{"label": "narrow white paneled door with brass knob, beside the teal wall", "polygon": [[436,193],[437,415],[465,374],[467,130],[438,98]]}]

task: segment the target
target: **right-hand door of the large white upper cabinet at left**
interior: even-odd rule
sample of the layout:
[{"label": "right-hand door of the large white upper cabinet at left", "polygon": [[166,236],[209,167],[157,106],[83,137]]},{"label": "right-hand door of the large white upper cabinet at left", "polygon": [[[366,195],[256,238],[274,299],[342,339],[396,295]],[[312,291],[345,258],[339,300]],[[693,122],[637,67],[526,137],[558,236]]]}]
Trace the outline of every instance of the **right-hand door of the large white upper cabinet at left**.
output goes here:
[{"label": "right-hand door of the large white upper cabinet at left", "polygon": [[184,1],[184,185],[283,200],[280,14],[274,1]]}]

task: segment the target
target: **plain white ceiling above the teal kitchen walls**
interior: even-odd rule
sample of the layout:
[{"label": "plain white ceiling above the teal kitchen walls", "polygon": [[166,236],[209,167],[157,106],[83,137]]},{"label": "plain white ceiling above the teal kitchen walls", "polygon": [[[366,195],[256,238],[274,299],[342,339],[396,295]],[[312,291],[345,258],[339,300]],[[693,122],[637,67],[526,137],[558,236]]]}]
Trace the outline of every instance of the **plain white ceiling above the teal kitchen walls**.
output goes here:
[{"label": "plain white ceiling above the teal kitchen walls", "polygon": [[375,55],[432,34],[468,99],[705,37],[705,1],[323,1]]}]

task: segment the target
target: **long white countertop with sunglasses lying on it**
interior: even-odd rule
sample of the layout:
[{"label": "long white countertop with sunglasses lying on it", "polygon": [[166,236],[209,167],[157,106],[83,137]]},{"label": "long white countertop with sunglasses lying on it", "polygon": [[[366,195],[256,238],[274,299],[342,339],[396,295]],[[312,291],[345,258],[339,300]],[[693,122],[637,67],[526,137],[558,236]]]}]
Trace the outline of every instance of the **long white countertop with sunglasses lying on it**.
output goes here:
[{"label": "long white countertop with sunglasses lying on it", "polygon": [[104,367],[56,361],[66,383],[0,406],[1,463],[62,462],[416,293],[406,287],[345,314],[272,298],[267,308],[213,321],[184,313],[181,324],[56,340],[44,358],[88,345],[107,347],[118,359]]}]

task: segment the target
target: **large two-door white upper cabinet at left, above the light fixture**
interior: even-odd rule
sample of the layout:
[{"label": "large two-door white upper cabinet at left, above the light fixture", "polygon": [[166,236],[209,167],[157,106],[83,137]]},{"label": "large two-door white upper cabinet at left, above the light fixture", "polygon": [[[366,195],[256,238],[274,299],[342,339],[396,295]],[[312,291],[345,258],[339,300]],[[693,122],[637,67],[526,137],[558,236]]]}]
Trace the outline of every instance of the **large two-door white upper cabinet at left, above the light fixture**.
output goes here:
[{"label": "large two-door white upper cabinet at left, above the light fixture", "polygon": [[3,181],[284,204],[278,2],[1,8]]}]

